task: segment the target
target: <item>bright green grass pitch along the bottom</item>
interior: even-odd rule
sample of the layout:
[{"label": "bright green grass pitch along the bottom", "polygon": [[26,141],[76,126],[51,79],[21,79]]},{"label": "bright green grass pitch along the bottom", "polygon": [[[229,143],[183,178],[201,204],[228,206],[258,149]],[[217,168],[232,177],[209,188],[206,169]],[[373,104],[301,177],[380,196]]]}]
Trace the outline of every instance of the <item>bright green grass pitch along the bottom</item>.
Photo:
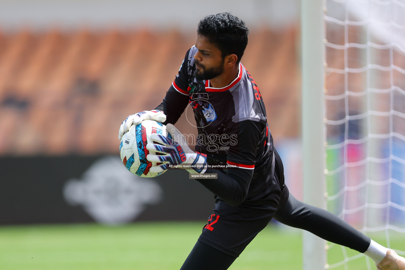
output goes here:
[{"label": "bright green grass pitch along the bottom", "polygon": [[[4,226],[0,227],[0,269],[178,270],[204,224],[201,221],[139,222],[119,227]],[[398,241],[404,242],[403,238]],[[302,269],[301,245],[299,231],[269,225],[229,269],[299,270]],[[358,254],[350,252],[349,255]],[[340,247],[335,246],[329,259],[341,261],[342,254]],[[367,269],[366,259],[363,256],[350,261],[349,266],[348,269]],[[344,266],[334,269],[344,269]]]}]

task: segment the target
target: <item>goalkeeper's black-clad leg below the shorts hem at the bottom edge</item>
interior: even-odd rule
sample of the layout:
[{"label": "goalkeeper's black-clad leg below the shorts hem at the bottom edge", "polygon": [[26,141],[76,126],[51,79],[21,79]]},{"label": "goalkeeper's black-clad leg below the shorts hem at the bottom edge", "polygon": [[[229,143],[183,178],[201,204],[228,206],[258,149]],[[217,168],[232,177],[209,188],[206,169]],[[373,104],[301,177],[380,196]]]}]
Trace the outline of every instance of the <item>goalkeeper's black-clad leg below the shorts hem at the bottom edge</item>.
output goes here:
[{"label": "goalkeeper's black-clad leg below the shorts hem at the bottom edge", "polygon": [[180,270],[226,270],[236,257],[197,241]]}]

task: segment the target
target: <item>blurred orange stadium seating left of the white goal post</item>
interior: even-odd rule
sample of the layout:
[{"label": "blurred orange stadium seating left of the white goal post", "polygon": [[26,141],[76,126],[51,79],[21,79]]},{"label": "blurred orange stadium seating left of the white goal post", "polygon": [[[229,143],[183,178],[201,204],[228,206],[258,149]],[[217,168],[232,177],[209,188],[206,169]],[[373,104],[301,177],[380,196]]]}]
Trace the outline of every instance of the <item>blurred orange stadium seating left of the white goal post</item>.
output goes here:
[{"label": "blurred orange stadium seating left of the white goal post", "polygon": [[[121,121],[160,104],[195,37],[176,30],[0,32],[0,155],[117,154]],[[300,129],[297,38],[295,28],[252,31],[241,61],[258,83],[276,139]],[[176,126],[196,133],[185,119]]]}]

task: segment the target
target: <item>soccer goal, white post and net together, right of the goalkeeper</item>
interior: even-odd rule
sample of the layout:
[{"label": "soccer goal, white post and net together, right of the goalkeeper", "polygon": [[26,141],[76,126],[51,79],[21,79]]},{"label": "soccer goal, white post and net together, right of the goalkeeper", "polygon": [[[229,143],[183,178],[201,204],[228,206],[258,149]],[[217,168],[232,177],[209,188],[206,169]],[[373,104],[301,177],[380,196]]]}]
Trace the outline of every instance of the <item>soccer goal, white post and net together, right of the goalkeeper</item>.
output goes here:
[{"label": "soccer goal, white post and net together, right of the goalkeeper", "polygon": [[[400,255],[404,14],[405,0],[301,1],[304,201]],[[304,270],[371,270],[373,264],[362,253],[303,233]]]}]

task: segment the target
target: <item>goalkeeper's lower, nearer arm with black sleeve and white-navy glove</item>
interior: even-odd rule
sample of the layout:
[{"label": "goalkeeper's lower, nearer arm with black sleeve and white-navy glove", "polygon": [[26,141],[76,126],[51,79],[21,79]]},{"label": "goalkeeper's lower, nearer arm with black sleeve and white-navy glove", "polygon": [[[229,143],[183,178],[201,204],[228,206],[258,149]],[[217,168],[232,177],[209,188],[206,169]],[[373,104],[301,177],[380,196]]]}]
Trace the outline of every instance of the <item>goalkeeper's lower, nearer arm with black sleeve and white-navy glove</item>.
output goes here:
[{"label": "goalkeeper's lower, nearer arm with black sleeve and white-navy glove", "polygon": [[[160,172],[169,168],[170,164],[194,164],[194,160],[198,160],[197,164],[201,164],[200,171],[190,168],[187,169],[190,173],[215,173],[217,179],[197,179],[207,189],[232,206],[241,204],[249,189],[252,181],[254,164],[256,162],[256,148],[260,139],[262,126],[254,121],[243,121],[243,123],[235,123],[239,125],[239,140],[243,146],[236,147],[228,151],[228,163],[237,164],[243,161],[250,167],[241,168],[243,164],[238,164],[239,168],[228,169],[226,174],[219,170],[207,168],[206,158],[202,158],[199,154],[192,151],[187,143],[183,140],[182,134],[175,129],[171,124],[167,125],[168,132],[172,135],[173,140],[158,134],[151,134],[151,140],[154,144],[148,143],[146,148],[149,151],[160,152],[160,155],[149,153],[147,159],[152,162],[159,162],[158,165],[152,166],[150,171]],[[162,155],[163,154],[163,155]],[[181,159],[181,156],[184,158]],[[195,171],[193,171],[195,170]]]}]

